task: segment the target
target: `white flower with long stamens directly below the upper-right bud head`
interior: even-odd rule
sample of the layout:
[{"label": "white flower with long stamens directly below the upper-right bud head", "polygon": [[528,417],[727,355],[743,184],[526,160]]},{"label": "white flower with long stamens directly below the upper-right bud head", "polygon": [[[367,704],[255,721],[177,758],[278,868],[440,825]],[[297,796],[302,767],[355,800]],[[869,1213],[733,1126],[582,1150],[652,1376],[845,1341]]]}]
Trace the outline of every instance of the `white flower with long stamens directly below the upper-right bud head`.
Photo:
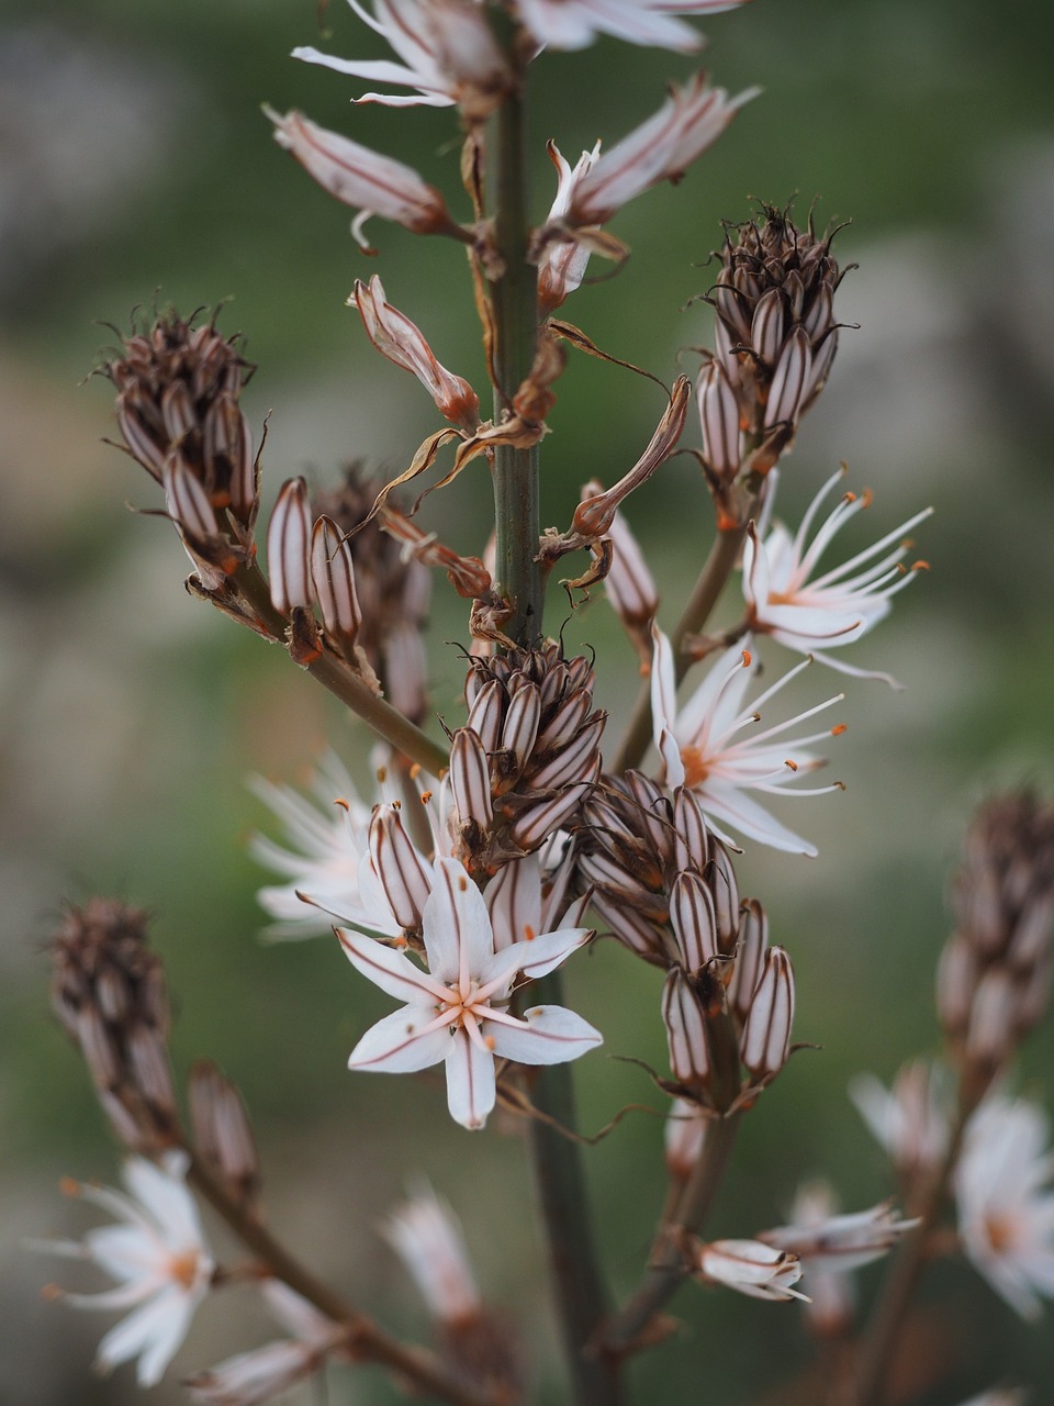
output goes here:
[{"label": "white flower with long stamens directly below the upper-right bud head", "polygon": [[923,509],[840,567],[814,576],[835,534],[871,502],[870,494],[845,494],[809,540],[821,503],[843,475],[845,470],[839,470],[821,488],[794,537],[783,523],[774,523],[767,534],[765,526],[760,531],[750,529],[743,546],[743,596],[750,626],[842,673],[894,683],[885,673],[853,668],[821,650],[853,644],[890,613],[890,599],[925,568],[925,562],[916,562],[911,571],[901,565],[909,546],[904,533],[933,509]]}]

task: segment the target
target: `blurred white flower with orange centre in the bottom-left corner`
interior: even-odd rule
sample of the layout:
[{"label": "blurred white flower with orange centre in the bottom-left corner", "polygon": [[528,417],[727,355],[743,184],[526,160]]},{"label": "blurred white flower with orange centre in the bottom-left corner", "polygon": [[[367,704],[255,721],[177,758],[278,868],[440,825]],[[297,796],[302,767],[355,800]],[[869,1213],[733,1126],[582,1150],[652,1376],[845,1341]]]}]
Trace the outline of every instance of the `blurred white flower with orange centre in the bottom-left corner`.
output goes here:
[{"label": "blurred white flower with orange centre in the bottom-left corner", "polygon": [[110,1371],[139,1358],[141,1386],[153,1386],[187,1336],[190,1320],[205,1298],[215,1268],[205,1244],[194,1198],[184,1182],[186,1157],[170,1153],[167,1170],[129,1157],[124,1182],[131,1195],[110,1187],[66,1182],[118,1218],[118,1225],[89,1230],[83,1240],[37,1241],[35,1249],[90,1260],[118,1284],[100,1294],[60,1296],[74,1308],[134,1309],[98,1344],[96,1364]]}]

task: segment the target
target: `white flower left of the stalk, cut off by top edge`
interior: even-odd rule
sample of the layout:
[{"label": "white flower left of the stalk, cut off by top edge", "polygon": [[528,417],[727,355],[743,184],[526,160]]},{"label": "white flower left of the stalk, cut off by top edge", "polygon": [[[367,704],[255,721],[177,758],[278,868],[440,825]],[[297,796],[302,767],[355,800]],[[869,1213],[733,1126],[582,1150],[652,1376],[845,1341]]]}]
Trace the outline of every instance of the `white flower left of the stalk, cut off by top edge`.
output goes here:
[{"label": "white flower left of the stalk, cut off by top edge", "polygon": [[[337,59],[313,48],[292,51],[294,59],[320,63],[351,77],[395,83],[408,96],[364,93],[356,103],[385,107],[453,107],[467,103],[482,117],[512,83],[509,66],[474,0],[374,0],[374,14],[357,0],[349,4],[375,34],[391,44],[402,63],[391,59]],[[489,98],[489,101],[488,101]],[[481,105],[483,110],[479,111]]]}]

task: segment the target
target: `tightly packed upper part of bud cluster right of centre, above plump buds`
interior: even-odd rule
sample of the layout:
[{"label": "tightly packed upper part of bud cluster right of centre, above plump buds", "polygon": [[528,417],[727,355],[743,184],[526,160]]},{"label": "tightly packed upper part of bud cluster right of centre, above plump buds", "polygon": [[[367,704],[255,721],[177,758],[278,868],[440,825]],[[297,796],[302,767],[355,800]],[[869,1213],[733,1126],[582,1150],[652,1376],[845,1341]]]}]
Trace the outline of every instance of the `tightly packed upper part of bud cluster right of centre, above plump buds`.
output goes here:
[{"label": "tightly packed upper part of bud cluster right of centre, above plump buds", "polygon": [[735,873],[693,792],[679,786],[670,799],[641,772],[604,776],[578,839],[578,886],[593,889],[593,907],[632,952],[693,974],[732,956]]}]

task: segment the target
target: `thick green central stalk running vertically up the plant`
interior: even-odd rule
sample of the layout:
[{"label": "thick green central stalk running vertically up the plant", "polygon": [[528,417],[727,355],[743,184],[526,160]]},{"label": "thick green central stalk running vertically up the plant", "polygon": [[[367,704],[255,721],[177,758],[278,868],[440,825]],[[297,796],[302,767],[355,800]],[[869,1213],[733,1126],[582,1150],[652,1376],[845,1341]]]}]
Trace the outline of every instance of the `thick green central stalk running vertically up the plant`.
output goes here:
[{"label": "thick green central stalk running vertically up the plant", "polygon": [[[510,52],[514,49],[514,37]],[[495,420],[512,401],[534,363],[538,333],[537,269],[527,262],[526,121],[523,91],[497,110],[493,128],[490,188],[496,202],[495,233],[505,273],[493,285]],[[503,626],[516,644],[541,637],[544,579],[537,558],[538,451],[499,446],[493,463],[497,591],[513,614]],[[559,1004],[559,979],[531,987],[531,1001]],[[579,1146],[558,1130],[575,1129],[575,1098],[566,1064],[542,1069],[531,1087],[542,1118],[530,1125],[538,1201],[545,1226],[552,1285],[576,1406],[617,1406],[618,1382],[609,1361],[590,1343],[607,1313]],[[547,1122],[545,1119],[551,1119]]]}]

